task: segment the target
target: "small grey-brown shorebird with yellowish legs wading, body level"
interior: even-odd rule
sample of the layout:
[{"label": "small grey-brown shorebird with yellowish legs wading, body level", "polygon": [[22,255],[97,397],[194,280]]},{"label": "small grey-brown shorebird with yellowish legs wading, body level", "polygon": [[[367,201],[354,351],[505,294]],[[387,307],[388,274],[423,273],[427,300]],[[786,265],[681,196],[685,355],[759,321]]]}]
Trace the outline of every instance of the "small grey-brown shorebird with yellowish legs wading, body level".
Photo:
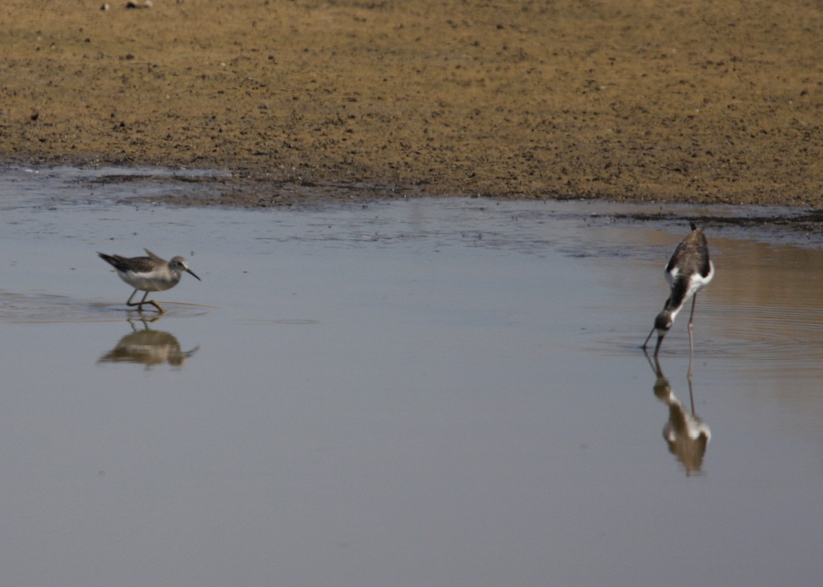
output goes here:
[{"label": "small grey-brown shorebird with yellowish legs wading, body level", "polygon": [[[188,262],[183,257],[171,257],[171,261],[160,259],[153,252],[147,248],[143,249],[148,257],[120,257],[119,255],[106,255],[98,252],[100,258],[109,263],[117,270],[117,275],[120,279],[134,288],[132,295],[128,297],[127,306],[137,306],[137,311],[143,311],[144,303],[151,303],[157,308],[157,312],[162,314],[165,310],[160,307],[153,299],[146,301],[146,296],[149,292],[160,292],[165,289],[171,289],[179,284],[183,272],[192,274],[198,281],[201,279],[194,275],[194,271],[188,268]],[[144,291],[142,300],[139,302],[132,302],[134,294],[138,291]]]}]

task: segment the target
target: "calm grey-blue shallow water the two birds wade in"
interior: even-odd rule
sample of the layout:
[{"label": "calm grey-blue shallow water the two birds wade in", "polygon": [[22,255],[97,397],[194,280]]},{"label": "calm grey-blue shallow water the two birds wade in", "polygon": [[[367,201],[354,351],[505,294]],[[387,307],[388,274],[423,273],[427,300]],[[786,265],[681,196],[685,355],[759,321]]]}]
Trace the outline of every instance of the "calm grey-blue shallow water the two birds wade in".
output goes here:
[{"label": "calm grey-blue shallow water the two birds wade in", "polygon": [[[690,386],[686,312],[638,348],[685,223],[126,205],[95,173],[0,174],[9,585],[819,580],[813,239],[709,231]],[[95,255],[142,247],[202,278],[162,317]]]}]

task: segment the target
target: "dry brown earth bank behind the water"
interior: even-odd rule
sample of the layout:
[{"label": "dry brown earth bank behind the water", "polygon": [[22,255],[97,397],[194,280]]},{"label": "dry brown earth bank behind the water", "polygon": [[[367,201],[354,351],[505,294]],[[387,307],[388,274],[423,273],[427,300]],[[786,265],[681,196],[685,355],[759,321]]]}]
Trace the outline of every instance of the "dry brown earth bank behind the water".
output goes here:
[{"label": "dry brown earth bank behind the water", "polygon": [[820,2],[126,4],[2,3],[0,159],[230,170],[202,203],[823,206]]}]

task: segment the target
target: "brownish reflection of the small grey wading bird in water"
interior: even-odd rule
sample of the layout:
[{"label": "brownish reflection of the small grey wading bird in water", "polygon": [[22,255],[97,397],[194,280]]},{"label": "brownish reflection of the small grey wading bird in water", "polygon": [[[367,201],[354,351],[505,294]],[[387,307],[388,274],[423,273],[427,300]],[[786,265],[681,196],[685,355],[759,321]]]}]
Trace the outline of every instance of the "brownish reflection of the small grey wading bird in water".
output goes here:
[{"label": "brownish reflection of the small grey wading bird in water", "polygon": [[163,330],[151,330],[146,320],[141,320],[143,330],[137,330],[132,321],[133,332],[123,336],[97,363],[142,363],[146,369],[152,365],[169,363],[172,367],[183,367],[186,359],[195,354],[199,346],[183,352],[174,335]]}]

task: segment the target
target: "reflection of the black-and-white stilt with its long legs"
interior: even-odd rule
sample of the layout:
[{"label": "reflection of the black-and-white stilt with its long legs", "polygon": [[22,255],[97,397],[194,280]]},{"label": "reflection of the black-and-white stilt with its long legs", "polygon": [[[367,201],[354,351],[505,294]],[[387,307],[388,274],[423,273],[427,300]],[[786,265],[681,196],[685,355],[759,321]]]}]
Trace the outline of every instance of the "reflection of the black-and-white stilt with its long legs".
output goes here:
[{"label": "reflection of the black-and-white stilt with its long legs", "polygon": [[690,411],[687,410],[677,395],[674,395],[672,386],[669,383],[663,370],[660,368],[658,358],[649,358],[649,365],[657,377],[654,381],[654,395],[658,400],[668,406],[669,419],[663,426],[663,438],[666,440],[669,451],[677,457],[686,469],[686,475],[701,474],[703,466],[703,456],[706,454],[706,446],[712,437],[709,426],[695,414],[695,397],[691,391],[691,362],[689,363],[689,400]]}]

